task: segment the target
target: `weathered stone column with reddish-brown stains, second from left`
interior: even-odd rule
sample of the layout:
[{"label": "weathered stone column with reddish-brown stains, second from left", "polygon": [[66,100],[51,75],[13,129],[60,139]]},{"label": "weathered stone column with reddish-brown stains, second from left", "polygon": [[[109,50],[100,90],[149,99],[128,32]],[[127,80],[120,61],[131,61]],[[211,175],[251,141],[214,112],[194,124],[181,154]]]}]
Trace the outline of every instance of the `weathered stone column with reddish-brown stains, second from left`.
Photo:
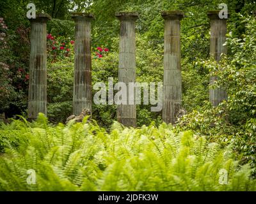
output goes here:
[{"label": "weathered stone column with reddish-brown stains, second from left", "polygon": [[72,13],[76,23],[73,113],[92,110],[91,13]]}]

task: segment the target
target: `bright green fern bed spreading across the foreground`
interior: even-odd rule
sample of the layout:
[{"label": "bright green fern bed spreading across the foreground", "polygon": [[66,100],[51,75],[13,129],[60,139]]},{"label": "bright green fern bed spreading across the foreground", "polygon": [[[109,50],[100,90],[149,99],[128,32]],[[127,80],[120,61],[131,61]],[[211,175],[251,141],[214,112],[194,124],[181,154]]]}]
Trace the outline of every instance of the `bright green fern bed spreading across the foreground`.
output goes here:
[{"label": "bright green fern bed spreading across the foreground", "polygon": [[[97,124],[33,124],[15,120],[1,126],[24,141],[0,157],[0,189],[7,191],[253,191],[250,167],[239,166],[229,147],[222,149],[187,131],[175,135],[161,124],[140,129],[115,122],[109,133]],[[12,136],[12,135],[10,135]],[[26,139],[26,140],[25,140]],[[36,172],[36,184],[26,171]],[[228,184],[220,184],[220,170]]]}]

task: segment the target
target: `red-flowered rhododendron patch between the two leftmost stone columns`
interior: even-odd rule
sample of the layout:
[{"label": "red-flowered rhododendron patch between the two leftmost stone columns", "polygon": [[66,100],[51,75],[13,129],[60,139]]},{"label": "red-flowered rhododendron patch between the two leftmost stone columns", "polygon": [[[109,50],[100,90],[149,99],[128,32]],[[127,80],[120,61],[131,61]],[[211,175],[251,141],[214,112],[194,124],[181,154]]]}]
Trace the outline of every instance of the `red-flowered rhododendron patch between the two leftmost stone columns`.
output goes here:
[{"label": "red-flowered rhododendron patch between the two leftmost stone columns", "polygon": [[65,59],[74,55],[74,40],[63,38],[62,36],[54,37],[52,34],[47,34],[47,51],[49,59]]}]

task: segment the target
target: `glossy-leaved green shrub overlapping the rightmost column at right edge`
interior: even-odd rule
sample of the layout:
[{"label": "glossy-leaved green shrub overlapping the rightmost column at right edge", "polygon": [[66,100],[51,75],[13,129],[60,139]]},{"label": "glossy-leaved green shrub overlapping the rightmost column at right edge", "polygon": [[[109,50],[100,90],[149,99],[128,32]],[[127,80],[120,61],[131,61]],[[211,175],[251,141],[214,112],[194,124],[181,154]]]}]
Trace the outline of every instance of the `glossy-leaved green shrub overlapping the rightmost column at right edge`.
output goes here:
[{"label": "glossy-leaved green shrub overlapping the rightmost column at right edge", "polygon": [[[216,64],[214,61],[196,61],[195,66],[211,70],[220,80],[214,86],[222,85],[228,92],[228,101],[212,108],[208,103],[199,110],[184,116],[177,129],[192,129],[223,145],[234,144],[234,150],[243,163],[256,166],[256,19],[243,17],[245,33],[240,37],[229,34],[228,57]],[[201,94],[202,96],[202,94]],[[228,120],[227,120],[228,119]]]}]

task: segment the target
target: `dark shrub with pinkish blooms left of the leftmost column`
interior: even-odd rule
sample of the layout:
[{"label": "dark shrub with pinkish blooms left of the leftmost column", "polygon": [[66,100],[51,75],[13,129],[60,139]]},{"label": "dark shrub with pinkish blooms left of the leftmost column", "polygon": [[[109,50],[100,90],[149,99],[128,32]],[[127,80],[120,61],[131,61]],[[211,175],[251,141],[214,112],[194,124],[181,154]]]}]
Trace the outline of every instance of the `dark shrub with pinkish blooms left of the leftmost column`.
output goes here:
[{"label": "dark shrub with pinkish blooms left of the leftmost column", "polygon": [[28,103],[29,28],[8,29],[0,18],[0,112],[22,114]]}]

